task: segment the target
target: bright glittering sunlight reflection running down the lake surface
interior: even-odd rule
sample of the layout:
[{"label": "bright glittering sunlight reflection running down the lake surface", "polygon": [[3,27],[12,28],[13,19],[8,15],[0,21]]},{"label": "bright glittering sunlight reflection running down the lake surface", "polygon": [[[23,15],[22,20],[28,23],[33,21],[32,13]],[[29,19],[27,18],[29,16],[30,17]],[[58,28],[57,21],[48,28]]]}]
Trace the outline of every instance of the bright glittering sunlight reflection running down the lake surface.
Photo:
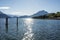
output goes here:
[{"label": "bright glittering sunlight reflection running down the lake surface", "polygon": [[26,30],[27,32],[24,34],[24,37],[22,40],[33,40],[32,39],[32,36],[33,36],[33,33],[32,33],[32,22],[33,20],[32,19],[25,19],[25,25],[26,25]]}]

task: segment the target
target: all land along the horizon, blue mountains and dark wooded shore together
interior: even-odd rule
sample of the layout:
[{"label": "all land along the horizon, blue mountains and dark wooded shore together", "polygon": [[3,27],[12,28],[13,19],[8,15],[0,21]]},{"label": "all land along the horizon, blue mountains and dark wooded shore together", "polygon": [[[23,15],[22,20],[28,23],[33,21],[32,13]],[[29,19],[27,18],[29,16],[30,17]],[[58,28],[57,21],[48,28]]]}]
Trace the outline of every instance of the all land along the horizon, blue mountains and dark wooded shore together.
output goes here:
[{"label": "all land along the horizon, blue mountains and dark wooded shore together", "polygon": [[[0,11],[0,18],[16,18],[18,16],[15,15],[7,15],[4,14],[3,12]],[[19,18],[36,18],[36,19],[59,19],[60,20],[60,12],[56,12],[56,13],[48,13],[45,10],[42,11],[38,11],[37,13],[31,15],[31,16],[19,16]]]}]

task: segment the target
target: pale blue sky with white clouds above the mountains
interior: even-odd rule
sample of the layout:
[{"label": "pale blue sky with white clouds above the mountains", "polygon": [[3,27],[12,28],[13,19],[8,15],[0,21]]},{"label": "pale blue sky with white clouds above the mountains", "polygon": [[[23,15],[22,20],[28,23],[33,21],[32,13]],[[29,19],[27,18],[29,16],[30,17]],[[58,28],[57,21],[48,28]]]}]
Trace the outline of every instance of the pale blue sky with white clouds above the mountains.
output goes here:
[{"label": "pale blue sky with white clouds above the mountains", "polygon": [[32,15],[41,10],[60,11],[60,0],[0,0],[0,11],[9,15]]}]

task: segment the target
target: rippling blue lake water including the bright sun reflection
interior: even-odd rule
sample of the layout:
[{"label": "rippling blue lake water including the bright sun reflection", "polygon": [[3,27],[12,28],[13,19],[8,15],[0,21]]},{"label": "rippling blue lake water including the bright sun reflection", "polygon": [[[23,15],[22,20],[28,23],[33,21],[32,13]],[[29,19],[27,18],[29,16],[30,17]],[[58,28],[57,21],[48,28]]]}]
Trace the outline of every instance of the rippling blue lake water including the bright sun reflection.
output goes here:
[{"label": "rippling blue lake water including the bright sun reflection", "polygon": [[60,20],[0,18],[0,40],[60,40]]}]

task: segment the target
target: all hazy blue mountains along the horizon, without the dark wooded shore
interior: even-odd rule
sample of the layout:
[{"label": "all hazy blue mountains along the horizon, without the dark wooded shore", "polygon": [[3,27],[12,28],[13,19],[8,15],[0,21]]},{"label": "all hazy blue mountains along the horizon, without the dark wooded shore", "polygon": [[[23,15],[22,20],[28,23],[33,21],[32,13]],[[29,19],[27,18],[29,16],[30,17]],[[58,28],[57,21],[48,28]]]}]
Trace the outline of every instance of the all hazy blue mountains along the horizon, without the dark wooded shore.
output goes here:
[{"label": "all hazy blue mountains along the horizon, without the dark wooded shore", "polygon": [[[42,16],[42,15],[45,15],[45,14],[48,14],[48,12],[45,11],[45,10],[42,10],[42,11],[38,11],[37,13],[35,13],[31,16],[24,15],[24,16],[19,16],[19,18],[37,17],[37,16]],[[4,14],[3,12],[0,11],[0,18],[5,18],[5,17],[18,17],[18,16],[7,15],[7,14]]]}]

